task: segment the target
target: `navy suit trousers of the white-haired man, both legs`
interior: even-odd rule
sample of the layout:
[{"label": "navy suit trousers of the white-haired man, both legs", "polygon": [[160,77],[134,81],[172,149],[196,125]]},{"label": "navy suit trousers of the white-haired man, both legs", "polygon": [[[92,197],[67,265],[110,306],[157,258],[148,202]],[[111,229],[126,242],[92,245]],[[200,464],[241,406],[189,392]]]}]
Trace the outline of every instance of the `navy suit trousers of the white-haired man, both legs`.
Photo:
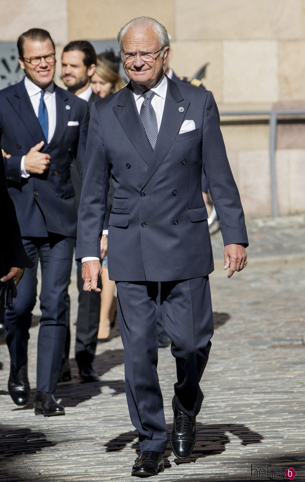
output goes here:
[{"label": "navy suit trousers of the white-haired man, both legs", "polygon": [[[168,430],[157,374],[158,282],[118,281],[118,320],[124,345],[126,396],[140,449],[164,453]],[[188,415],[198,415],[203,393],[200,378],[213,335],[209,278],[160,283],[164,330],[172,340],[177,382],[175,402]]]}]

